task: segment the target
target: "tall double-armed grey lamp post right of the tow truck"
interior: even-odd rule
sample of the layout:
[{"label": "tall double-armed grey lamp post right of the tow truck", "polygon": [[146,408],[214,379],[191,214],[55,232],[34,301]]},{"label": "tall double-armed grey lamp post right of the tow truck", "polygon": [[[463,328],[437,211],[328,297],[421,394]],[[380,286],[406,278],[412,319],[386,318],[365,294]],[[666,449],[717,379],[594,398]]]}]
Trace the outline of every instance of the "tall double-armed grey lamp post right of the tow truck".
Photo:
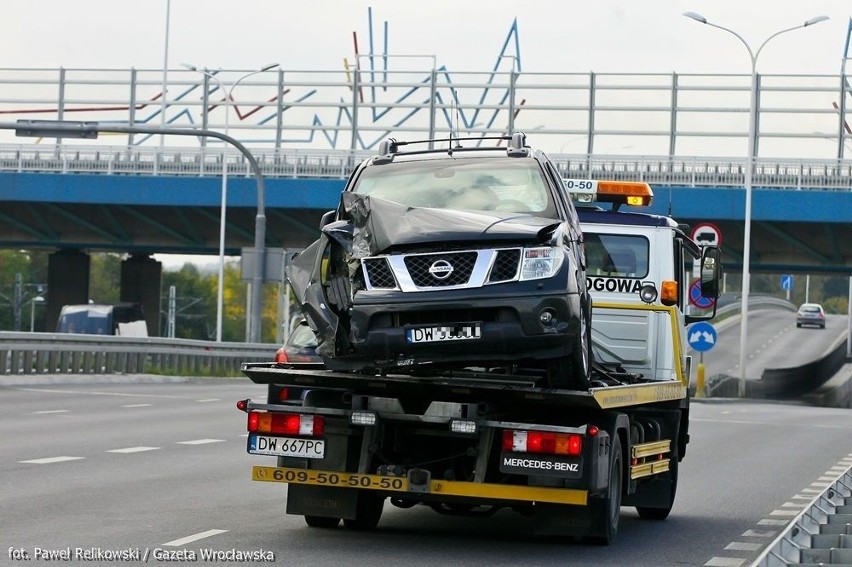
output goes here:
[{"label": "tall double-armed grey lamp post right of the tow truck", "polygon": [[760,44],[760,47],[757,48],[757,51],[753,51],[748,42],[743,39],[743,37],[735,32],[734,30],[728,29],[726,27],[711,23],[707,21],[707,18],[700,14],[696,14],[695,12],[685,12],[683,14],[687,18],[691,18],[698,23],[707,24],[708,26],[718,28],[722,31],[726,31],[729,34],[736,37],[740,42],[745,46],[746,50],[748,50],[749,57],[751,57],[751,101],[749,104],[749,116],[748,116],[748,156],[746,160],[746,176],[745,176],[745,228],[743,233],[743,285],[742,285],[742,314],[740,317],[740,384],[739,384],[739,393],[740,397],[745,397],[746,393],[746,335],[748,334],[748,295],[749,288],[751,286],[751,280],[749,275],[749,259],[751,255],[751,186],[752,186],[752,177],[754,174],[754,160],[757,157],[755,147],[757,142],[757,58],[760,56],[760,52],[766,46],[769,41],[775,37],[778,37],[782,33],[786,33],[788,31],[793,31],[799,28],[806,28],[808,26],[812,26],[814,24],[818,24],[820,22],[824,22],[828,19],[828,16],[817,16],[815,18],[811,18],[810,20],[805,21],[803,24],[799,24],[798,26],[793,26],[791,28],[785,28],[781,31],[777,31],[774,34],[770,35],[766,38],[763,43]]}]

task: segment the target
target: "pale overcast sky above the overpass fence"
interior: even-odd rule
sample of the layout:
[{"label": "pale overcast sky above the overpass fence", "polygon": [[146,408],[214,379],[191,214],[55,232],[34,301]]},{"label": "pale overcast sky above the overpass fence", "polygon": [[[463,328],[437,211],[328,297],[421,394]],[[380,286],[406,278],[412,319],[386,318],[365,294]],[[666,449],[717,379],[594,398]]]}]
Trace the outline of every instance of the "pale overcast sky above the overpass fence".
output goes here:
[{"label": "pale overcast sky above the overpass fence", "polygon": [[457,71],[490,70],[517,18],[524,71],[749,72],[742,44],[682,15],[694,11],[754,49],[827,15],[774,39],[758,70],[837,74],[852,16],[848,0],[4,0],[0,68],[162,69],[168,19],[169,68],[340,69],[353,32],[369,49],[368,8],[377,52],[387,22],[389,53]]}]

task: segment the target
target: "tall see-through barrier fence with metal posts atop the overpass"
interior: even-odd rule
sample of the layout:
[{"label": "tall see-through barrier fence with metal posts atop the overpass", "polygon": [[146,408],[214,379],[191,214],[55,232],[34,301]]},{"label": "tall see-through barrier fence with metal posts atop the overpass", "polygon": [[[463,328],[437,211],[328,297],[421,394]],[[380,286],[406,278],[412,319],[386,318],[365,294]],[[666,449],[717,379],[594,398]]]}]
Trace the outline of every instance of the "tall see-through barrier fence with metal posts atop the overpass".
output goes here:
[{"label": "tall see-through barrier fence with metal posts atop the overpass", "polygon": [[[245,73],[211,71],[226,81]],[[164,92],[163,75],[162,69],[0,68],[0,119],[225,129],[229,103],[216,80],[170,69]],[[850,120],[839,110],[850,94],[847,77],[758,79],[758,157],[849,154]],[[536,146],[551,154],[745,156],[750,90],[747,74],[280,68],[240,84],[229,104],[236,120],[228,127],[253,148],[358,151],[377,147],[389,135],[433,139],[525,131],[534,132]],[[11,136],[0,133],[0,141]],[[162,145],[163,139],[128,134],[103,143]]]}]

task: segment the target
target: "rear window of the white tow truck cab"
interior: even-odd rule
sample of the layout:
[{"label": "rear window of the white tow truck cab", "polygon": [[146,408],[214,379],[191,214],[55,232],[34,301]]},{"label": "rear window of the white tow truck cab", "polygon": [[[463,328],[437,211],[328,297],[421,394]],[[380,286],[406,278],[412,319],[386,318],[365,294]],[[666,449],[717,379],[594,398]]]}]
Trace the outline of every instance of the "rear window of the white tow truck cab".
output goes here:
[{"label": "rear window of the white tow truck cab", "polygon": [[648,239],[644,236],[584,232],[583,238],[588,275],[616,278],[648,275]]}]

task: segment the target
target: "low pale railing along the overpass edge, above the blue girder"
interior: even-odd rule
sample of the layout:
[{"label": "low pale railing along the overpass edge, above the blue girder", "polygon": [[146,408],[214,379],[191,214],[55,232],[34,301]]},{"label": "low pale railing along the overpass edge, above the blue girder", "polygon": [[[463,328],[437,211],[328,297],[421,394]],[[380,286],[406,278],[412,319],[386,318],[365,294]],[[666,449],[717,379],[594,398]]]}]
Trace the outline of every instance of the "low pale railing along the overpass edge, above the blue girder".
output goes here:
[{"label": "low pale railing along the overpass edge, above the blue girder", "polygon": [[[253,149],[267,177],[345,179],[368,150]],[[0,145],[0,172],[107,175],[218,176],[227,159],[229,175],[250,177],[245,156],[209,147]],[[639,180],[689,187],[742,187],[745,159],[677,156],[551,155],[564,177]],[[852,190],[852,160],[769,159],[755,161],[755,187]]]}]

